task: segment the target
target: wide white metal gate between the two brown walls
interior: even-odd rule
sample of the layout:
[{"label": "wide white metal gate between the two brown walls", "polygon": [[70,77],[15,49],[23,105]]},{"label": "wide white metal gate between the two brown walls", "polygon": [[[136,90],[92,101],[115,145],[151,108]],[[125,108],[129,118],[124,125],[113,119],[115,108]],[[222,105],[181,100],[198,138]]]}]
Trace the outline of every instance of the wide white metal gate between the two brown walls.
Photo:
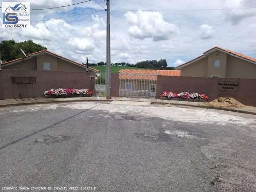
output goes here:
[{"label": "wide white metal gate between the two brown walls", "polygon": [[156,77],[154,74],[119,73],[119,96],[156,98]]}]

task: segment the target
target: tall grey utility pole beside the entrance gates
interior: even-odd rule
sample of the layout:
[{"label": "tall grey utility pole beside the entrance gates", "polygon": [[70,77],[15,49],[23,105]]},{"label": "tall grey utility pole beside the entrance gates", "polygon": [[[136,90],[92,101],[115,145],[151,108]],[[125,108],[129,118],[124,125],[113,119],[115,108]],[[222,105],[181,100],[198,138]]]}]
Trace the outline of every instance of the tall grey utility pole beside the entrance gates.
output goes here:
[{"label": "tall grey utility pole beside the entrance gates", "polygon": [[110,72],[110,0],[107,0],[107,66],[106,66],[106,99],[111,99],[111,72]]}]

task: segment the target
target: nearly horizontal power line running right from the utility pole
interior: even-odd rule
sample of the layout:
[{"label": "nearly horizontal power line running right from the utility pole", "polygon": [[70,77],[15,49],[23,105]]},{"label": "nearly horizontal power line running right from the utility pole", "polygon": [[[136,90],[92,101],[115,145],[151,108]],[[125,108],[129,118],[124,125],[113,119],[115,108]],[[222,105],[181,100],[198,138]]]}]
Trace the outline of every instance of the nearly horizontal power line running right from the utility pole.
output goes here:
[{"label": "nearly horizontal power line running right from the utility pole", "polygon": [[157,11],[157,12],[172,12],[172,11],[216,11],[216,10],[241,10],[241,9],[256,9],[256,7],[244,8],[219,8],[219,9],[173,9],[173,10],[128,10],[128,9],[111,9],[111,11]]}]

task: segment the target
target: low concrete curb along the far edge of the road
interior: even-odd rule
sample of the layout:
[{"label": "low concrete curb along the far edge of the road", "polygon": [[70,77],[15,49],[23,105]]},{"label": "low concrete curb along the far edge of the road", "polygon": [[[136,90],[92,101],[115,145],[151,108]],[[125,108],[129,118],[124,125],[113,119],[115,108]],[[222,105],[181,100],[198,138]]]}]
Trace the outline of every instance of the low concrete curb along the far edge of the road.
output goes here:
[{"label": "low concrete curb along the far edge of the road", "polygon": [[[26,103],[12,103],[12,104],[3,104],[0,105],[1,107],[9,107],[9,106],[19,106],[19,105],[32,105],[32,104],[48,104],[48,103],[66,103],[66,102],[111,102],[113,99],[105,99],[105,100],[66,100],[66,101],[42,101],[42,102],[26,102]],[[129,100],[126,100],[129,101]],[[133,101],[133,100],[130,100]],[[138,101],[139,102],[139,101]],[[216,108],[216,107],[206,107],[201,105],[190,105],[190,104],[179,104],[179,103],[164,103],[164,102],[151,102],[151,104],[162,104],[162,105],[176,105],[176,106],[190,106],[190,107],[198,107],[198,108],[207,108],[207,109],[215,109],[215,110],[224,110],[224,111],[231,111],[231,112],[238,112],[243,114],[250,114],[256,115],[256,112],[251,111],[244,111],[240,109],[229,109],[229,108]]]}]

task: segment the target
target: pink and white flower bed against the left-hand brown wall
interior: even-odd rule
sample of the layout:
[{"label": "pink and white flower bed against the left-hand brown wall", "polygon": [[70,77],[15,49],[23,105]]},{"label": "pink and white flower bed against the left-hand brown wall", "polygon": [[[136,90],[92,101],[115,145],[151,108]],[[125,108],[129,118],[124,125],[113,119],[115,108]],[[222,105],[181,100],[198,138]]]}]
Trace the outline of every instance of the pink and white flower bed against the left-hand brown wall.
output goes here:
[{"label": "pink and white flower bed against the left-hand brown wall", "polygon": [[45,98],[91,97],[91,96],[92,96],[92,91],[89,89],[54,88],[44,92]]}]

